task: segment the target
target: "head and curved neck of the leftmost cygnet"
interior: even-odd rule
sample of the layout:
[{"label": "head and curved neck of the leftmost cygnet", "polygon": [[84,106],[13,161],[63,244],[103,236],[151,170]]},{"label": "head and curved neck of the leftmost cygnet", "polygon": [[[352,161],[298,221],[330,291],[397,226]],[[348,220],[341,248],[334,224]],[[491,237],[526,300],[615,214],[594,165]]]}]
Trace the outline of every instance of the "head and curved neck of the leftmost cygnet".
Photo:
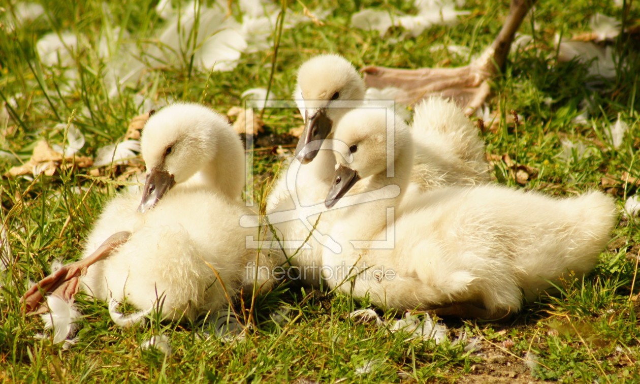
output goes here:
[{"label": "head and curved neck of the leftmost cygnet", "polygon": [[141,138],[147,182],[140,212],[174,185],[202,186],[241,199],[244,150],[227,119],[200,104],[173,104],[152,115]]}]

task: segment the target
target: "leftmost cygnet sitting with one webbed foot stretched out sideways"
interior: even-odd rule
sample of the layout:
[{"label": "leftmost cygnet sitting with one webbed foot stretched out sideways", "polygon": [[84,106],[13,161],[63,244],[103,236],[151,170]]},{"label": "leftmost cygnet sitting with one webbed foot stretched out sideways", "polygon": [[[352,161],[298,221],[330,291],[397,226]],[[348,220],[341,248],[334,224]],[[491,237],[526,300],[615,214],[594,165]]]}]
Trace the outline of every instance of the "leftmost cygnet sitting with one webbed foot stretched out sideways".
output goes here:
[{"label": "leftmost cygnet sitting with one webbed foot stretched out sideways", "polygon": [[255,276],[256,266],[271,266],[268,257],[246,247],[257,231],[239,225],[250,212],[239,198],[244,156],[230,125],[204,106],[173,104],[148,120],[141,140],[143,212],[136,210],[140,194],[116,196],[88,236],[83,260],[25,294],[28,311],[42,310],[41,290],[69,300],[82,285],[100,300],[193,319],[225,307],[243,285],[271,284]]}]

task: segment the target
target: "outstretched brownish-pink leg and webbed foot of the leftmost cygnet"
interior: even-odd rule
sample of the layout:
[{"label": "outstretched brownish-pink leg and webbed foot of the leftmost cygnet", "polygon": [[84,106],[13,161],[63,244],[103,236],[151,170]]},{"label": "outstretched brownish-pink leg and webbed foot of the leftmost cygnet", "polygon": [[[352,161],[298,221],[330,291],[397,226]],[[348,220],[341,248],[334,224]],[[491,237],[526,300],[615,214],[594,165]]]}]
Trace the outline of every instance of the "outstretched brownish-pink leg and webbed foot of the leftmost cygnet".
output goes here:
[{"label": "outstretched brownish-pink leg and webbed foot of the leftmost cygnet", "polygon": [[80,277],[86,274],[86,269],[95,262],[106,259],[111,252],[129,240],[131,232],[117,232],[109,236],[104,243],[88,257],[67,264],[51,275],[43,278],[25,292],[20,299],[28,315],[47,312],[47,306],[42,303],[46,294],[55,294],[65,301],[70,301],[80,287]]}]

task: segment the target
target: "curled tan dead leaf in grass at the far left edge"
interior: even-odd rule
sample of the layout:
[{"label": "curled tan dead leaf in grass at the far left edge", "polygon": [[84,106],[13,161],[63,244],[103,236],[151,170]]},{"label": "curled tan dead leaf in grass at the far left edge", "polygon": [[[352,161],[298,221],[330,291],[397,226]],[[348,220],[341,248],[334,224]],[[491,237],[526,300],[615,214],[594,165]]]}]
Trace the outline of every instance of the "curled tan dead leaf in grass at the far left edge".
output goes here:
[{"label": "curled tan dead leaf in grass at the far left edge", "polygon": [[28,162],[14,166],[5,173],[5,176],[40,175],[44,173],[52,176],[58,169],[67,170],[73,166],[78,168],[88,168],[93,165],[93,160],[86,156],[68,156],[64,159],[60,152],[53,150],[46,141],[38,141],[33,148],[33,154]]}]

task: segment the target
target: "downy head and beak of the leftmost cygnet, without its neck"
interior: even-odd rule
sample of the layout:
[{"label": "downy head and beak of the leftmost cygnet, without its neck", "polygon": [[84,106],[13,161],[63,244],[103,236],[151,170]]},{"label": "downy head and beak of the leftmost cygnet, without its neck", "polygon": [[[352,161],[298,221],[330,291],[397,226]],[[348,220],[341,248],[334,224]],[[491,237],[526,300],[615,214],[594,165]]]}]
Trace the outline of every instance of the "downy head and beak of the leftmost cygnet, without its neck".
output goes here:
[{"label": "downy head and beak of the leftmost cygnet, without its neck", "polygon": [[150,116],[141,138],[147,181],[139,212],[154,207],[175,184],[212,161],[219,129],[230,129],[227,120],[200,104],[172,104]]}]

